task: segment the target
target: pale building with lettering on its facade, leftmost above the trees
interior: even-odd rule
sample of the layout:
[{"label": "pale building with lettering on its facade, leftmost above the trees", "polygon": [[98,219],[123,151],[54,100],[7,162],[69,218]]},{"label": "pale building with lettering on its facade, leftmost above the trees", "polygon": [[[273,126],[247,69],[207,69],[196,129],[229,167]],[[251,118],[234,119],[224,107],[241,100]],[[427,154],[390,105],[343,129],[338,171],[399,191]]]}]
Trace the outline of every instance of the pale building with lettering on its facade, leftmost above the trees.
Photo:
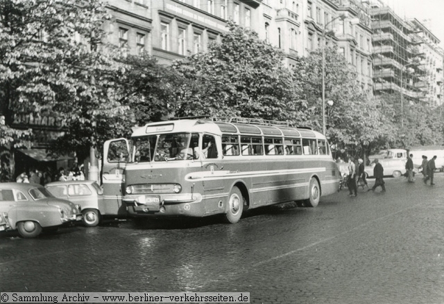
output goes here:
[{"label": "pale building with lettering on its facade, leftmost above the trees", "polygon": [[259,23],[256,0],[110,0],[108,42],[135,55],[148,52],[160,64],[206,51],[232,19],[246,28]]}]

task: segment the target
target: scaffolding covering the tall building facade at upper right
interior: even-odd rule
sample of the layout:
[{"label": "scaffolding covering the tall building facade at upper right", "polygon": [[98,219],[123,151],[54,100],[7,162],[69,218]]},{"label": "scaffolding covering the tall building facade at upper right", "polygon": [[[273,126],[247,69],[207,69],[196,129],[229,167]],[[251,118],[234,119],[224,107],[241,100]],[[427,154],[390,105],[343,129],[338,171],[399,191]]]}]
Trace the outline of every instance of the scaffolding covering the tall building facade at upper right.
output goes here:
[{"label": "scaffolding covering the tall building facade at upper right", "polygon": [[387,6],[371,9],[373,28],[374,94],[398,93],[404,100],[425,98],[426,71],[417,64],[423,55],[411,23],[402,20]]}]

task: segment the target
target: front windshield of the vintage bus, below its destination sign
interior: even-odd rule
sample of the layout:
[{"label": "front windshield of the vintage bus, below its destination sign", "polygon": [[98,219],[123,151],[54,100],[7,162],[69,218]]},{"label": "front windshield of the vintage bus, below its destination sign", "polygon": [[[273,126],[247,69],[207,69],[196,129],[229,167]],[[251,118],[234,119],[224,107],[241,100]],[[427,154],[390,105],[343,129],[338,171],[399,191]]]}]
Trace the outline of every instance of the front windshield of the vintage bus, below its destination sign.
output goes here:
[{"label": "front windshield of the vintage bus, below its destination sign", "polygon": [[172,133],[135,138],[135,161],[195,159],[198,134]]}]

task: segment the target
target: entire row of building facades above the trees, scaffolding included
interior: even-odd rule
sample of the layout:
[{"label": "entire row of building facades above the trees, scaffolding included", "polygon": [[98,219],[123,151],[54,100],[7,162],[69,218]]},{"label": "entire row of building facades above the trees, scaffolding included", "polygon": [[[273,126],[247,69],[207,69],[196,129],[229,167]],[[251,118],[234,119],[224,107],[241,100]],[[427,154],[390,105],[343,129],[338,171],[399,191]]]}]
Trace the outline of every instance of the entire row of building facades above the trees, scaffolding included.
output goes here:
[{"label": "entire row of building facades above the trees, scaffolding included", "polygon": [[[381,0],[110,0],[108,8],[108,41],[132,54],[148,52],[160,64],[206,51],[232,19],[282,49],[288,66],[324,38],[355,67],[364,90],[443,103],[439,40]],[[428,63],[414,64],[421,60]]]}]

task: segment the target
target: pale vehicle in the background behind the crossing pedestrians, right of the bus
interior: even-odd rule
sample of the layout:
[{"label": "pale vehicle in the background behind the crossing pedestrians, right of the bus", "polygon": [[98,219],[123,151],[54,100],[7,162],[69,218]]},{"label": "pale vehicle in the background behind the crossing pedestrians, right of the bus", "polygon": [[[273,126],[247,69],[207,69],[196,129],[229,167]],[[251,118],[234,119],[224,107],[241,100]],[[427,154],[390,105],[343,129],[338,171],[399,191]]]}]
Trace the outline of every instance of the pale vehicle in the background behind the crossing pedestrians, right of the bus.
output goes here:
[{"label": "pale vehicle in the background behind the crossing pedestrians, right of the bus", "polygon": [[[406,172],[405,163],[407,163],[407,150],[388,149],[384,158],[378,158],[378,161],[381,163],[382,168],[384,168],[384,175],[400,177]],[[367,177],[373,177],[373,168],[375,168],[374,162],[371,163],[370,166],[364,167]]]}]

